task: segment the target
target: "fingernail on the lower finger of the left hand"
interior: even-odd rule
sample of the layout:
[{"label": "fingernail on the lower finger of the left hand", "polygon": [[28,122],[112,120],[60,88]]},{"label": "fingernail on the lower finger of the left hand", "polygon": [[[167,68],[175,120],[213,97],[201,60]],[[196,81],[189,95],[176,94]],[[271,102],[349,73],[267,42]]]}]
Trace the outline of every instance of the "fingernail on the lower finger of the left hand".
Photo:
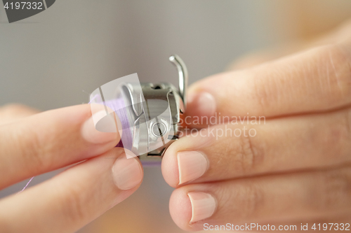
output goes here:
[{"label": "fingernail on the lower finger of the left hand", "polygon": [[119,158],[112,167],[114,183],[120,190],[129,190],[143,179],[143,170],[137,160]]}]

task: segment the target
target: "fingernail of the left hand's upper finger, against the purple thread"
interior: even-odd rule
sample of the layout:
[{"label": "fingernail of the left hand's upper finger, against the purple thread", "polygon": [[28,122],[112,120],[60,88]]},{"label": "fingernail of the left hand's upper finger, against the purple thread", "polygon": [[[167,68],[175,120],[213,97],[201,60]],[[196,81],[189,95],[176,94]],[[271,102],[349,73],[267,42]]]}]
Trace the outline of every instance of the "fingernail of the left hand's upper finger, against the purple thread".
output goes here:
[{"label": "fingernail of the left hand's upper finger, against the purple thread", "polygon": [[91,143],[108,143],[117,140],[117,127],[114,113],[98,111],[81,126],[81,136]]}]

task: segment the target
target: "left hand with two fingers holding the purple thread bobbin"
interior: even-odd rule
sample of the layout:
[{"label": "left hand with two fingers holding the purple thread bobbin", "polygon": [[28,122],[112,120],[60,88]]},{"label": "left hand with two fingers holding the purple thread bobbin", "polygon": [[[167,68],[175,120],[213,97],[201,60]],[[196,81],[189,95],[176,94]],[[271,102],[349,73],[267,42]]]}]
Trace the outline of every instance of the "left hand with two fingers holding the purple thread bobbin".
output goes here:
[{"label": "left hand with two fingers holding the purple thread bobbin", "polygon": [[137,158],[127,160],[123,148],[114,148],[119,139],[117,130],[95,130],[88,105],[44,113],[0,108],[0,189],[72,165],[1,199],[0,231],[75,232],[126,199],[143,169]]}]

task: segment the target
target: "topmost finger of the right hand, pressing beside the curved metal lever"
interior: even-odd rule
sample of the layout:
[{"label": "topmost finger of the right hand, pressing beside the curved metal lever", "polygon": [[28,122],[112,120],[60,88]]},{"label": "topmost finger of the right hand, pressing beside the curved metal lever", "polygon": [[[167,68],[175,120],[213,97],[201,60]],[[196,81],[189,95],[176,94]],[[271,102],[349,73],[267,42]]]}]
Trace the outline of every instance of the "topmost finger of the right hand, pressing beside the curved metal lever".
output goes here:
[{"label": "topmost finger of the right hand, pressing beside the curved metal lever", "polygon": [[350,67],[351,45],[338,44],[220,73],[190,88],[186,113],[196,125],[191,117],[216,116],[218,123],[219,115],[272,118],[341,108],[351,104]]}]

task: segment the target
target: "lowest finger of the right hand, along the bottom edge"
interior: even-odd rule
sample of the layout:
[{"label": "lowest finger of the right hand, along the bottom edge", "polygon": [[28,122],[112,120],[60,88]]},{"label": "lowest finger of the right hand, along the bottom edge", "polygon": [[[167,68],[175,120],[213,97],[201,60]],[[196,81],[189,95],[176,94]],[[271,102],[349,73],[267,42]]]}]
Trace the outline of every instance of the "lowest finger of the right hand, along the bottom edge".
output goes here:
[{"label": "lowest finger of the right hand, along the bottom edge", "polygon": [[263,176],[185,185],[170,200],[174,222],[183,230],[204,223],[270,223],[311,220],[350,213],[351,169]]}]

